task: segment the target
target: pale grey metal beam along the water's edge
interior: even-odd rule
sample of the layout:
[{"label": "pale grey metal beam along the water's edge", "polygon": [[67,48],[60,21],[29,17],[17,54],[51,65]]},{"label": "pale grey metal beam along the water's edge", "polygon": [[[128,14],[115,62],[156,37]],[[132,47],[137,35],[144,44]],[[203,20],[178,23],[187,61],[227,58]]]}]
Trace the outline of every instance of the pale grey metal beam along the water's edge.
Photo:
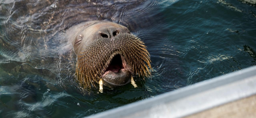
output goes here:
[{"label": "pale grey metal beam along the water's edge", "polygon": [[89,118],[184,117],[254,94],[256,66],[101,112]]}]

